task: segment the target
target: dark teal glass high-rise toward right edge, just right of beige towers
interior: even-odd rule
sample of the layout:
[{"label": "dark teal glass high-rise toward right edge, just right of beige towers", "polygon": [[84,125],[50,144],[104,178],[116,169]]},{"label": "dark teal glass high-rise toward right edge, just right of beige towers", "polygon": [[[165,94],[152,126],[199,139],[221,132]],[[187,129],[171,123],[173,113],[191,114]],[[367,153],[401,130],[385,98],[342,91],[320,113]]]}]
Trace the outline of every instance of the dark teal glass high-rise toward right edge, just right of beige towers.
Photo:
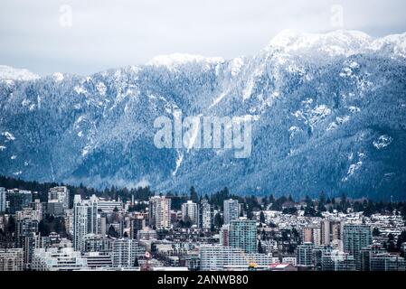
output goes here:
[{"label": "dark teal glass high-rise toward right edge, just right of beige towers", "polygon": [[373,242],[371,226],[366,224],[345,224],[343,244],[345,253],[354,256],[357,269],[361,269],[360,252]]}]

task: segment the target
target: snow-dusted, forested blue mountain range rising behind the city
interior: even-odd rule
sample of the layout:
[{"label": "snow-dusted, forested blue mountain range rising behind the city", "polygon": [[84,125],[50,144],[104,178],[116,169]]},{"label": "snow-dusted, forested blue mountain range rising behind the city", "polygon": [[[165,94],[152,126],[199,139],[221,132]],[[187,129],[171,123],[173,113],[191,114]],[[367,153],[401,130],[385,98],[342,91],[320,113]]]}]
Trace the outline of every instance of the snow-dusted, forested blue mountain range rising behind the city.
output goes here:
[{"label": "snow-dusted, forested blue mountain range rising behind the city", "polygon": [[[1,174],[98,188],[406,196],[406,34],[283,32],[229,61],[174,54],[89,77],[0,72]],[[154,120],[175,109],[253,116],[250,158],[157,149]]]}]

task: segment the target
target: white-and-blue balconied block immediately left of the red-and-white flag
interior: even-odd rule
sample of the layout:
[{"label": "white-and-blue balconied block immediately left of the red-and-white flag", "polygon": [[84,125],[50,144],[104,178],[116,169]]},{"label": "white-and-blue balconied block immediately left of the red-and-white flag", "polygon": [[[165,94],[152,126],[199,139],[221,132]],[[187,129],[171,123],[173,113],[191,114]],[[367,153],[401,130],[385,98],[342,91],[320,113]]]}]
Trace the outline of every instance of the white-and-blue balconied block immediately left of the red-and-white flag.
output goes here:
[{"label": "white-and-blue balconied block immediately left of the red-and-white flag", "polygon": [[136,259],[146,252],[145,247],[138,246],[137,240],[131,238],[113,240],[111,247],[113,266],[119,268],[134,267]]}]

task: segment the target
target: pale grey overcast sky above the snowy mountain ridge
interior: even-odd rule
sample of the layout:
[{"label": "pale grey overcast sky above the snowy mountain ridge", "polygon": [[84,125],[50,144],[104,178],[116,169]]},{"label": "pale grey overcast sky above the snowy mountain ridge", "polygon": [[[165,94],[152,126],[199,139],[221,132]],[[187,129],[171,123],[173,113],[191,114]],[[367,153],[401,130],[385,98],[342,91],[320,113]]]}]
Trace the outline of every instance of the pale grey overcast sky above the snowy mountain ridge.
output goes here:
[{"label": "pale grey overcast sky above the snowy mountain ridge", "polygon": [[406,32],[404,0],[1,0],[0,64],[89,74],[187,52],[232,58],[277,33]]}]

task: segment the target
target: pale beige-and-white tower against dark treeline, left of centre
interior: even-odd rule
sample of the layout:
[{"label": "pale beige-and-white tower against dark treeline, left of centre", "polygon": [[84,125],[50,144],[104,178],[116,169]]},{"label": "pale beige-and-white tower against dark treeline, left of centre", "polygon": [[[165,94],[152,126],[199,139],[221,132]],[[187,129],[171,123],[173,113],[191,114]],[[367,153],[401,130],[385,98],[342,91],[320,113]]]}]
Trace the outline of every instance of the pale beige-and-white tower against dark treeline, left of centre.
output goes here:
[{"label": "pale beige-and-white tower against dark treeline, left of centre", "polygon": [[149,199],[149,224],[156,228],[171,226],[171,199],[159,196]]}]

